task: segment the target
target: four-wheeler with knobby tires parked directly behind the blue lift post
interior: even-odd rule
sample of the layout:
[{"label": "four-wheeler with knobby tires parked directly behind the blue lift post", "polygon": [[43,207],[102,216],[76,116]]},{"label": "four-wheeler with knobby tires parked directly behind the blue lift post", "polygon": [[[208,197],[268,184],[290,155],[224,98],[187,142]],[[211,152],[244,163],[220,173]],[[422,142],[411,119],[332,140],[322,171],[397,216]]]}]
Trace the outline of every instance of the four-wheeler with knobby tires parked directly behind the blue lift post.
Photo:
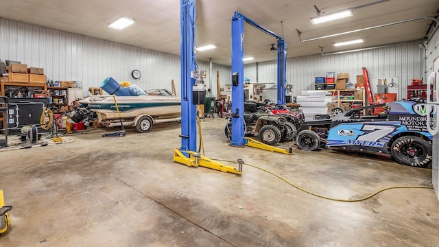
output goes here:
[{"label": "four-wheeler with knobby tires parked directly behind the blue lift post", "polygon": [[[246,102],[244,104],[244,130],[245,136],[258,136],[265,144],[276,145],[280,141],[287,141],[293,138],[293,128],[286,117],[274,115],[264,107],[259,107],[254,113],[250,113],[249,108],[257,107],[256,103]],[[246,111],[247,110],[247,111]],[[227,117],[227,124],[224,128],[226,137],[232,137],[231,117]]]}]

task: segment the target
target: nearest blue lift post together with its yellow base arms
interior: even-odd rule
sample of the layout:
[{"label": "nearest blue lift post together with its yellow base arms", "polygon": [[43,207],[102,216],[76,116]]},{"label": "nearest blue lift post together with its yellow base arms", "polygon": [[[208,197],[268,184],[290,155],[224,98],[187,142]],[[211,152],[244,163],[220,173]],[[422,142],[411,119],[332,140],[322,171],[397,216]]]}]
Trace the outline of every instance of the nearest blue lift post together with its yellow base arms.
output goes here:
[{"label": "nearest blue lift post together with its yellow base arms", "polygon": [[[180,0],[181,147],[174,149],[173,160],[187,166],[208,167],[240,175],[242,174],[242,163],[239,163],[239,169],[236,169],[197,153],[197,110],[193,99],[198,93],[195,92],[194,95],[194,91],[203,91],[198,83],[203,83],[202,78],[205,77],[205,73],[199,71],[196,64],[196,14],[195,0]],[[199,95],[198,97],[200,97]]]}]

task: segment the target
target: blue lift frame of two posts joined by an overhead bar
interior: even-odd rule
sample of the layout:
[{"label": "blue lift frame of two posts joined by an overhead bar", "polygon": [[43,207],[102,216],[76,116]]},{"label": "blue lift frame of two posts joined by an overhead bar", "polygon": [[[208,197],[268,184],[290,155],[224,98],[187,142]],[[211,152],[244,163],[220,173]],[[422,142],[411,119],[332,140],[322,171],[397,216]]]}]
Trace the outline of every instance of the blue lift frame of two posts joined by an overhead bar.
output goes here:
[{"label": "blue lift frame of two posts joined by an overhead bar", "polygon": [[287,44],[282,36],[235,12],[232,17],[232,145],[247,144],[244,139],[244,21],[277,40],[277,104],[285,104]]}]

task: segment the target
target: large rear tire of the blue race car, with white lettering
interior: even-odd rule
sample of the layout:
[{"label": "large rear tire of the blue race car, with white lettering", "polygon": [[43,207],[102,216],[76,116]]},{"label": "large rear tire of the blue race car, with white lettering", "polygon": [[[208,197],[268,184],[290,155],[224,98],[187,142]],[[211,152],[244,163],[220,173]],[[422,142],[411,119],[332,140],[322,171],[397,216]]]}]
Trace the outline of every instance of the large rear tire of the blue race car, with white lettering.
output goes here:
[{"label": "large rear tire of the blue race car, with white lettering", "polygon": [[426,167],[433,159],[431,144],[420,137],[399,137],[392,143],[392,157],[402,165]]}]

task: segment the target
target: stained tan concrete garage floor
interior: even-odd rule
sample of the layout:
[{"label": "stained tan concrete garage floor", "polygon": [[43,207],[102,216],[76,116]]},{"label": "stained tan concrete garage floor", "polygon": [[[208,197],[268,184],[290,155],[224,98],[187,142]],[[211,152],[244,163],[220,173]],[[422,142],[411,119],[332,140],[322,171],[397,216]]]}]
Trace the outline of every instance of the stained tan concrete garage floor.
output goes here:
[{"label": "stained tan concrete garage floor", "polygon": [[[431,169],[405,167],[387,156],[230,148],[224,124],[202,121],[206,156],[242,158],[324,196],[362,198],[431,178]],[[174,163],[180,124],[144,134],[130,128],[126,137],[102,138],[104,131],[0,152],[0,189],[14,207],[0,246],[439,245],[433,189],[392,189],[362,202],[335,202],[246,165],[237,176]]]}]

